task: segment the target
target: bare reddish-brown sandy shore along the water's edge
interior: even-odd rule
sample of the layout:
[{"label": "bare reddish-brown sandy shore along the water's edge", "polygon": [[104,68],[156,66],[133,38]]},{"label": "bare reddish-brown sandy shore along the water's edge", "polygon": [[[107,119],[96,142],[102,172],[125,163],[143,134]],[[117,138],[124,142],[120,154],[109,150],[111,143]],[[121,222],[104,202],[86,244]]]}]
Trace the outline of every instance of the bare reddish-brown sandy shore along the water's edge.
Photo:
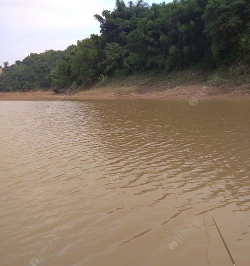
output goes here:
[{"label": "bare reddish-brown sandy shore along the water's edge", "polygon": [[75,94],[55,94],[51,90],[28,92],[0,92],[0,100],[84,100],[84,99],[198,99],[207,98],[250,98],[247,85],[237,87],[209,87],[204,85],[167,86],[131,86],[119,88],[94,88]]}]

